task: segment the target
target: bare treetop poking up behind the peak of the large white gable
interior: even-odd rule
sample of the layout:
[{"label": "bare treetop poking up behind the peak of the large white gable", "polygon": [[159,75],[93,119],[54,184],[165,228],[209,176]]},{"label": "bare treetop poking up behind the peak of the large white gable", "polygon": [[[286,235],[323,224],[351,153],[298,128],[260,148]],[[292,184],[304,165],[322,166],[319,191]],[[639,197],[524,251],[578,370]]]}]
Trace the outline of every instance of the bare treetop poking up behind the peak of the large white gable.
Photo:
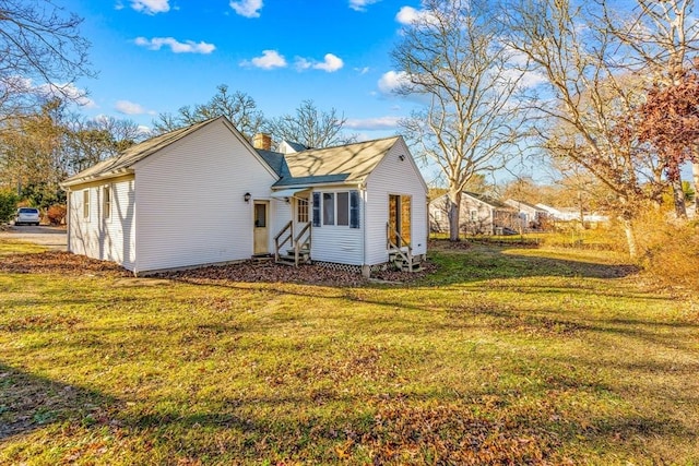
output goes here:
[{"label": "bare treetop poking up behind the peak of the large white gable", "polygon": [[176,115],[159,113],[157,120],[153,121],[153,132],[166,133],[223,116],[251,140],[260,131],[264,121],[254,99],[240,91],[229,94],[228,86],[225,84],[218,85],[216,91],[216,95],[206,104],[180,107]]}]

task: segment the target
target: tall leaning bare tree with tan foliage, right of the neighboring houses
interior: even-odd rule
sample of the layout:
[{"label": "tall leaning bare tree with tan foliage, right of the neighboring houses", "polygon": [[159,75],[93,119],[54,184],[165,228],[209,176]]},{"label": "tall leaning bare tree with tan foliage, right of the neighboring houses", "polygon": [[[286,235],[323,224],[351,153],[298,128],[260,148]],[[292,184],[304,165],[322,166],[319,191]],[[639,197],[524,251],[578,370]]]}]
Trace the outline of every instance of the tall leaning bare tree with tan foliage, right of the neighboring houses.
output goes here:
[{"label": "tall leaning bare tree with tan foliage, right of the neighboring houses", "polygon": [[556,157],[584,167],[614,193],[611,208],[625,227],[629,254],[638,247],[633,219],[665,186],[662,165],[629,134],[629,112],[643,83],[619,72],[618,43],[599,15],[568,0],[519,0],[508,5],[510,46],[545,76],[538,139]]}]

